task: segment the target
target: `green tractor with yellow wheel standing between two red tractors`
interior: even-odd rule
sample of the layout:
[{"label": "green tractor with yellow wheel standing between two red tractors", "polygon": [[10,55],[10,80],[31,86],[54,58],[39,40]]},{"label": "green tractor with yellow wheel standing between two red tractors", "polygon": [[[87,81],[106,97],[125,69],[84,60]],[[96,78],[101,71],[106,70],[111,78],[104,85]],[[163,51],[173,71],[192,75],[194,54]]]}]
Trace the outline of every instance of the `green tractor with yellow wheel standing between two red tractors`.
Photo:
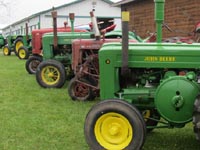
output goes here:
[{"label": "green tractor with yellow wheel standing between two red tractors", "polygon": [[[52,12],[53,18],[57,13]],[[89,39],[92,32],[82,30],[74,32],[74,14],[70,14],[71,32],[57,32],[54,25],[53,33],[42,37],[43,61],[37,66],[36,81],[44,88],[61,88],[66,78],[73,76],[71,70],[72,41],[74,39]],[[56,23],[56,22],[55,22]]]}]

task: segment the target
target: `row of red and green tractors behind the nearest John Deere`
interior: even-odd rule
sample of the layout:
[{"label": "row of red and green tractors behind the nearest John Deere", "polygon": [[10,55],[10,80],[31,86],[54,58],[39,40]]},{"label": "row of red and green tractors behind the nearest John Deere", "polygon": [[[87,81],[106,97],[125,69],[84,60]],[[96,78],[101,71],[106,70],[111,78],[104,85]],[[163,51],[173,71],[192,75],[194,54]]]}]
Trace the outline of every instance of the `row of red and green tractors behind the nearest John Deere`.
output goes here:
[{"label": "row of red and green tractors behind the nearest John Deere", "polygon": [[[35,29],[28,34],[26,24],[26,35],[7,36],[6,39],[2,36],[0,38],[2,44],[0,44],[3,54],[9,56],[14,51],[20,59],[27,59],[25,63],[27,72],[36,74],[36,81],[44,88],[61,88],[66,79],[75,77],[70,82],[70,96],[72,99],[88,100],[87,95],[93,92],[99,93],[96,92],[97,89],[99,90],[99,81],[96,78],[93,79],[91,74],[94,73],[91,65],[95,62],[97,64],[94,66],[97,68],[93,68],[96,69],[95,76],[99,75],[98,50],[104,43],[121,42],[122,37],[121,31],[113,31],[116,26],[114,24],[99,30],[93,12],[90,15],[92,23],[90,24],[91,31],[88,31],[74,27],[73,13],[69,14],[71,26],[67,26],[65,22],[64,27],[57,27],[57,12],[52,11],[53,28]],[[129,32],[129,39],[133,42],[151,40],[142,40],[133,32]],[[89,59],[91,59],[90,62]],[[85,71],[86,68],[90,69],[87,70],[89,75],[82,72],[83,67]],[[78,75],[75,76],[76,74]],[[96,90],[93,89],[94,85]],[[81,89],[85,91],[80,91]],[[79,96],[80,93],[85,93],[85,95]],[[92,95],[94,95],[93,98],[98,96],[98,94]]]}]

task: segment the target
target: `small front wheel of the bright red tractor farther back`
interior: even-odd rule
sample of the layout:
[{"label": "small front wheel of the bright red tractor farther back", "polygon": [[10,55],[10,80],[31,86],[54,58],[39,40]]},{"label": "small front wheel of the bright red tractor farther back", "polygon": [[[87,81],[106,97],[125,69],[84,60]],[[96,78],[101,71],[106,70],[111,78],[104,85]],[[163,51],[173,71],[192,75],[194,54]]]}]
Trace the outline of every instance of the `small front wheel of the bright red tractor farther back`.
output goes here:
[{"label": "small front wheel of the bright red tractor farther back", "polygon": [[39,66],[39,64],[42,62],[41,56],[31,56],[27,59],[25,63],[26,71],[29,74],[36,74],[36,69]]}]

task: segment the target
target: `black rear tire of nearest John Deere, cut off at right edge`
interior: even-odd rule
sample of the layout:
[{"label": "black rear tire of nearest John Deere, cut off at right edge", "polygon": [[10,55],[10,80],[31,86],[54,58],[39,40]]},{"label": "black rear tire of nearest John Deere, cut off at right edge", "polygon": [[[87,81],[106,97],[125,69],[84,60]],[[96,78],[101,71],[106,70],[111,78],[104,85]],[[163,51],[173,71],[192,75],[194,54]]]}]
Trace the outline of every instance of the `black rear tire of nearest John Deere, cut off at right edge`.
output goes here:
[{"label": "black rear tire of nearest John Deere, cut off at right edge", "polygon": [[194,102],[193,124],[196,139],[200,141],[200,95],[197,96]]}]

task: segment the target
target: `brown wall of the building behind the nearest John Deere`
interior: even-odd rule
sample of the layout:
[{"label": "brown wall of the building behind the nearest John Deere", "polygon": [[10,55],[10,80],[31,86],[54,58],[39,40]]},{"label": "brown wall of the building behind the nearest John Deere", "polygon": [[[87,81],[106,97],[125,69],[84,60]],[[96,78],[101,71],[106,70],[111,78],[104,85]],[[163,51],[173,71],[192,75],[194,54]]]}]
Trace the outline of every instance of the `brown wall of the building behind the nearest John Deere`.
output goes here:
[{"label": "brown wall of the building behind the nearest John Deere", "polygon": [[[148,32],[156,31],[154,21],[154,1],[140,0],[122,6],[130,11],[129,29],[145,38]],[[166,0],[165,23],[174,31],[163,28],[163,37],[188,36],[200,21],[199,0]]]}]

